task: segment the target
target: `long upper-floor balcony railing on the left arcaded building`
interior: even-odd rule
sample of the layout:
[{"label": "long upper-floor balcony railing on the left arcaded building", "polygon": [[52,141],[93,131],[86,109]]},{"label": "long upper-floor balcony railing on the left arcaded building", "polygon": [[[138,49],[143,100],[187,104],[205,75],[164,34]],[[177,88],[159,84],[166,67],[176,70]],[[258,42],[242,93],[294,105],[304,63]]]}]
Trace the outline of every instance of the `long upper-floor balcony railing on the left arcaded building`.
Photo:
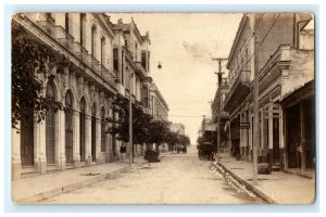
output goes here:
[{"label": "long upper-floor balcony railing on the left arcaded building", "polygon": [[74,37],[71,36],[62,26],[54,25],[53,18],[48,17],[45,21],[37,21],[36,24],[47,35],[49,35],[58,43],[73,53],[79,61],[85,63],[106,82],[109,82],[113,87],[116,86],[115,80],[117,78],[117,74],[114,72],[110,72],[91,54],[88,54],[88,51],[79,42],[75,42]]}]

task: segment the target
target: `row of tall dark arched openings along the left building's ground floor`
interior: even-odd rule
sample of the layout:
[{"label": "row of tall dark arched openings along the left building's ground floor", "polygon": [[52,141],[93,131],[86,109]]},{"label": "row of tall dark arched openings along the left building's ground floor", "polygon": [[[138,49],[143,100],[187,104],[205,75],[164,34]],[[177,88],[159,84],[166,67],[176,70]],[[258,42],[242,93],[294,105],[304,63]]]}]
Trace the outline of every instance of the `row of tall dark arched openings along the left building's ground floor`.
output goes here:
[{"label": "row of tall dark arched openings along the left building's ground floor", "polygon": [[[58,99],[55,84],[53,80],[48,81],[46,88],[46,95],[48,98]],[[115,155],[115,138],[111,137],[111,140],[108,141],[105,129],[108,123],[105,123],[105,110],[101,107],[100,116],[97,117],[97,105],[93,103],[90,107],[90,113],[87,114],[87,101],[85,97],[82,97],[79,101],[79,110],[74,110],[74,94],[70,89],[65,92],[64,95],[64,110],[54,111],[53,107],[50,107],[47,111],[45,119],[45,154],[47,165],[55,165],[61,154],[58,148],[58,141],[60,135],[64,133],[64,154],[66,164],[74,164],[76,159],[76,153],[80,157],[80,162],[89,161],[89,154],[91,155],[91,162],[97,161],[97,155],[99,152],[108,152],[106,143],[110,142],[112,145],[113,155]],[[64,124],[59,124],[59,113],[64,113]],[[112,114],[112,111],[110,112]],[[30,114],[32,116],[34,114]],[[78,122],[77,122],[77,119]],[[90,122],[87,122],[87,119]],[[60,126],[59,126],[60,125]],[[64,126],[63,126],[64,125]],[[77,126],[78,125],[78,126]],[[89,126],[90,125],[90,126]],[[35,163],[35,133],[34,126],[35,123],[32,120],[21,123],[21,162],[22,166],[33,166]],[[100,129],[99,129],[100,128]],[[64,130],[64,132],[62,132]],[[89,131],[90,130],[90,131]],[[98,137],[100,133],[100,138]],[[87,135],[88,133],[88,135]],[[76,138],[78,137],[78,139]],[[87,148],[87,137],[90,137],[90,150]],[[99,141],[98,141],[99,140]],[[78,148],[76,146],[76,141],[78,141]],[[97,145],[97,142],[100,142],[100,146]],[[63,145],[63,144],[62,144]],[[99,149],[99,150],[97,150]],[[78,151],[77,151],[78,150]],[[89,153],[90,152],[90,153]]]}]

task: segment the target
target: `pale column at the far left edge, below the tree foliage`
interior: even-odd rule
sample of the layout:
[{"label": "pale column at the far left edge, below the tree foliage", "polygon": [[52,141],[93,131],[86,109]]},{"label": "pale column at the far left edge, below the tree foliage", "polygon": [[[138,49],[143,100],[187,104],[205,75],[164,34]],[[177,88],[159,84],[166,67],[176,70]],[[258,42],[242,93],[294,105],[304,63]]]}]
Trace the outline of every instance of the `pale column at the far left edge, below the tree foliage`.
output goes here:
[{"label": "pale column at the far left edge, below the tree foliage", "polygon": [[[21,128],[21,123],[16,125]],[[21,161],[21,133],[17,129],[11,129],[11,180],[21,178],[22,161]]]}]

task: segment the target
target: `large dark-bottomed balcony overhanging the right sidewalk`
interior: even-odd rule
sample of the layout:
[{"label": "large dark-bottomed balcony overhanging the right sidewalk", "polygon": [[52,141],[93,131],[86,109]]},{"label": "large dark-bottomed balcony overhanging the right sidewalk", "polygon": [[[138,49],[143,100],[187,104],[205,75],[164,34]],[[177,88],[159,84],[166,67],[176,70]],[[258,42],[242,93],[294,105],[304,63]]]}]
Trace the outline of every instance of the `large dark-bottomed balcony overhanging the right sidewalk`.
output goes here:
[{"label": "large dark-bottomed balcony overhanging the right sidewalk", "polygon": [[224,101],[224,110],[229,114],[237,108],[238,104],[250,91],[250,71],[241,71],[236,78],[230,91]]}]

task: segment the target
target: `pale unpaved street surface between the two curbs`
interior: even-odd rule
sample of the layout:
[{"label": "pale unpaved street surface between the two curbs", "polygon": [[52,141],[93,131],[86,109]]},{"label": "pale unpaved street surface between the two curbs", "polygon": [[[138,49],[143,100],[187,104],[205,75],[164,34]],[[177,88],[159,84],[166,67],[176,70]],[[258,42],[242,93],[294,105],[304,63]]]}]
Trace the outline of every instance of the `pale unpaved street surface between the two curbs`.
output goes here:
[{"label": "pale unpaved street surface between the two curbs", "polygon": [[[190,152],[190,153],[189,153]],[[248,204],[262,203],[231,190],[200,161],[196,148],[163,154],[160,163],[135,168],[115,179],[41,201],[46,204]]]}]

